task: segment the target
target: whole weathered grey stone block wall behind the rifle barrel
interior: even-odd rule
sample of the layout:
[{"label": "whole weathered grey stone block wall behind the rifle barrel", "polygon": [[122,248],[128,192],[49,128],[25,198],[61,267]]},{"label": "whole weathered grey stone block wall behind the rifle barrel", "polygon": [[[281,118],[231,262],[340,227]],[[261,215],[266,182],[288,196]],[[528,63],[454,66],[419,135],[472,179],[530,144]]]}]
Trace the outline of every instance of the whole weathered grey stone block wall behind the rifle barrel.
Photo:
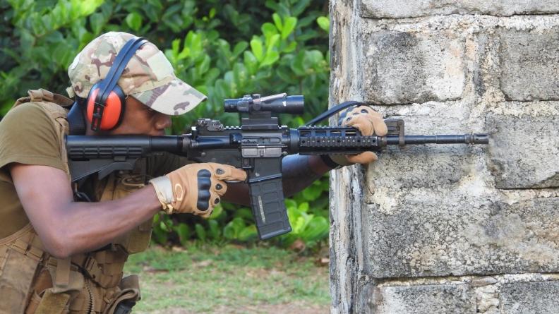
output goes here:
[{"label": "whole weathered grey stone block wall behind the rifle barrel", "polygon": [[491,138],[332,172],[331,312],[559,313],[559,1],[332,0],[330,16],[331,104]]}]

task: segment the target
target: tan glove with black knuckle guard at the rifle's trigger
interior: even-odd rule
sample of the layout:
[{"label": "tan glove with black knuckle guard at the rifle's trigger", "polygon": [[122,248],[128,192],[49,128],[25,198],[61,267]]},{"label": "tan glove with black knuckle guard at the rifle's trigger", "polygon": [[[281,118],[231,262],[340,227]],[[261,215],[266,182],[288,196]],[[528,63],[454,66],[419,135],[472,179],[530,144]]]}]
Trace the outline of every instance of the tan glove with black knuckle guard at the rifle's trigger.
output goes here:
[{"label": "tan glove with black knuckle guard at the rifle's trigger", "polygon": [[227,191],[225,181],[244,181],[246,172],[227,164],[187,164],[150,180],[167,214],[188,212],[209,217]]}]

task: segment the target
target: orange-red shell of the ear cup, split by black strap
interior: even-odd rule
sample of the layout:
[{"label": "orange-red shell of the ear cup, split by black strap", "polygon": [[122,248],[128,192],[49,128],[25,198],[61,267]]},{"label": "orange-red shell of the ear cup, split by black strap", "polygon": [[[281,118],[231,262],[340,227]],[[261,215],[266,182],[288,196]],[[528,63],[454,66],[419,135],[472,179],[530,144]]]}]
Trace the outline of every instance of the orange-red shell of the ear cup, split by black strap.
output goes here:
[{"label": "orange-red shell of the ear cup, split by black strap", "polygon": [[[93,110],[95,109],[95,98],[100,92],[100,88],[94,85],[88,96],[88,110],[87,117],[90,123],[93,120]],[[126,97],[121,88],[116,85],[114,89],[109,93],[107,97],[107,102],[103,110],[103,116],[101,118],[100,129],[103,131],[109,131],[112,128],[116,128],[124,116],[124,104]]]}]

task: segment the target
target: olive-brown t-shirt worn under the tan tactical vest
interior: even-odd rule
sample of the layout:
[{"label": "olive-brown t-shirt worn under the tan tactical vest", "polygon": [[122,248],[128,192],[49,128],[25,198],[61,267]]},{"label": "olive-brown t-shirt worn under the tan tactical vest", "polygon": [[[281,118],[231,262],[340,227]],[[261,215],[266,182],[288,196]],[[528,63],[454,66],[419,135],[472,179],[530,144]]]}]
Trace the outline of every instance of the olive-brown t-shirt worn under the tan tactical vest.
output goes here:
[{"label": "olive-brown t-shirt worn under the tan tactical vest", "polygon": [[[64,171],[58,136],[54,121],[36,102],[20,104],[0,121],[0,238],[13,234],[29,222],[6,166],[17,162]],[[185,157],[155,155],[147,158],[146,171],[150,176],[162,176],[187,163]],[[97,184],[103,181],[95,181]],[[93,195],[90,198],[95,200]]]}]

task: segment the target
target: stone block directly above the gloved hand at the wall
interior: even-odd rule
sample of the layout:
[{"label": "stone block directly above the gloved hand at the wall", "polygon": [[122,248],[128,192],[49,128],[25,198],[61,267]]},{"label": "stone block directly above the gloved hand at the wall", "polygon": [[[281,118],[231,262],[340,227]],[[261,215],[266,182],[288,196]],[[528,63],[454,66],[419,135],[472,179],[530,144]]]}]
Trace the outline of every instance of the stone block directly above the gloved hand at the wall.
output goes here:
[{"label": "stone block directly above the gloved hand at the wall", "polygon": [[[365,36],[365,35],[364,35]],[[445,32],[372,32],[363,40],[363,99],[409,104],[458,99],[464,39]]]}]

